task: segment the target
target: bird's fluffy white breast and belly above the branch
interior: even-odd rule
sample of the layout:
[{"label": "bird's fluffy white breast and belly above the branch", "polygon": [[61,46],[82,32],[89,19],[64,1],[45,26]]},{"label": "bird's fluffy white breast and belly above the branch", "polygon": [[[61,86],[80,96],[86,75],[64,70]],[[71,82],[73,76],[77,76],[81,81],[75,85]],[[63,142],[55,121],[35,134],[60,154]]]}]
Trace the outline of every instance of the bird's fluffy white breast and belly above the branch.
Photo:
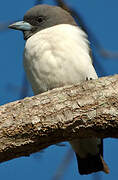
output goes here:
[{"label": "bird's fluffy white breast and belly above the branch", "polygon": [[35,94],[82,82],[97,75],[85,33],[72,25],[57,25],[31,36],[25,45],[24,67]]}]

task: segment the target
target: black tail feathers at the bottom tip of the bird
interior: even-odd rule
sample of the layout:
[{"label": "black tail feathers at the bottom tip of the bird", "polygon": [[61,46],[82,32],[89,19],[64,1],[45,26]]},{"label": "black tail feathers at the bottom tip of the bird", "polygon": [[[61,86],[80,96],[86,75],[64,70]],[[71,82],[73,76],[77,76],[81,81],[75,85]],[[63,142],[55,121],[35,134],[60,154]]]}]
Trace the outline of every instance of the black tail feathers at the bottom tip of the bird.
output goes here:
[{"label": "black tail feathers at the bottom tip of the bird", "polygon": [[80,158],[78,154],[76,156],[80,174],[90,174],[97,171],[109,173],[109,168],[100,154],[95,156],[88,155],[86,158]]}]

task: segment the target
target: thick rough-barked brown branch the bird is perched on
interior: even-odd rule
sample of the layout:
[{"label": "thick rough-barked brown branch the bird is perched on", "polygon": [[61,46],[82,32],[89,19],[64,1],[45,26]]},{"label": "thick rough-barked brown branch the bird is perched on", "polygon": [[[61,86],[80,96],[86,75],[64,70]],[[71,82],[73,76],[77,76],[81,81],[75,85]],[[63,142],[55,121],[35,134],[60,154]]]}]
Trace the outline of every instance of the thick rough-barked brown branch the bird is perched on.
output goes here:
[{"label": "thick rough-barked brown branch the bird is perched on", "polygon": [[118,75],[0,107],[0,162],[93,136],[118,137]]}]

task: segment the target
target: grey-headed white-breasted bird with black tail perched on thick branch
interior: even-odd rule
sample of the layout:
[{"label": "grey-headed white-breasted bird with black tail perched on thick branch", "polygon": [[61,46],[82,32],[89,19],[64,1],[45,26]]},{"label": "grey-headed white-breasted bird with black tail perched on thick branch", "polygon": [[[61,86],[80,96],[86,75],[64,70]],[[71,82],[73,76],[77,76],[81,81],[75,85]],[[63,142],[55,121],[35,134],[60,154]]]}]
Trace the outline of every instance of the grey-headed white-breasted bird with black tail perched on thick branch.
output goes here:
[{"label": "grey-headed white-breasted bird with black tail perched on thick branch", "polygon": [[[34,6],[22,21],[10,24],[9,28],[23,32],[26,41],[23,64],[34,95],[98,78],[87,34],[61,7]],[[98,171],[109,173],[103,160],[102,139],[78,138],[70,144],[81,175]]]}]

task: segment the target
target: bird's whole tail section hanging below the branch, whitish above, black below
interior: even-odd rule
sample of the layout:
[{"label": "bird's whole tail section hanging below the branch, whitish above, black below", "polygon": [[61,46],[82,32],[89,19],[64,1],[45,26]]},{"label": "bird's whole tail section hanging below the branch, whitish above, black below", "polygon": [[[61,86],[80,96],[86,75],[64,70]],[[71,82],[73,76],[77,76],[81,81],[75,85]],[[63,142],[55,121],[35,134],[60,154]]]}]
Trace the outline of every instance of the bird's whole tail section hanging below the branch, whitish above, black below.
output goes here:
[{"label": "bird's whole tail section hanging below the branch, whitish above, black below", "polygon": [[75,139],[70,142],[74,149],[80,174],[90,174],[109,168],[103,160],[103,140],[99,138]]}]

